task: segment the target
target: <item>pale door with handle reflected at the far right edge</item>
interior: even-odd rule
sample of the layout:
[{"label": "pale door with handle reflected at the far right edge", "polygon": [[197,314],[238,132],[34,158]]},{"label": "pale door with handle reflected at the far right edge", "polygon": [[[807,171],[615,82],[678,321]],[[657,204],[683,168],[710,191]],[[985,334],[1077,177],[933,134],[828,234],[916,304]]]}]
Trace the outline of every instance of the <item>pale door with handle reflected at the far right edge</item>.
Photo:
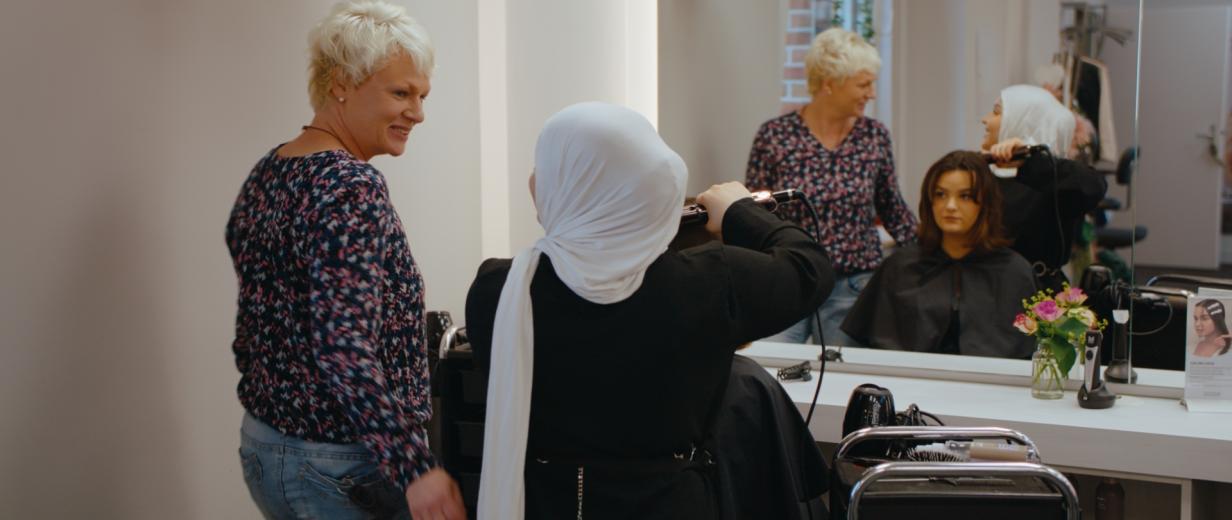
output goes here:
[{"label": "pale door with handle reflected at the far right edge", "polygon": [[1142,25],[1142,159],[1133,186],[1135,218],[1149,234],[1135,244],[1133,259],[1215,270],[1223,171],[1198,136],[1217,136],[1223,124],[1232,6],[1147,2]]}]

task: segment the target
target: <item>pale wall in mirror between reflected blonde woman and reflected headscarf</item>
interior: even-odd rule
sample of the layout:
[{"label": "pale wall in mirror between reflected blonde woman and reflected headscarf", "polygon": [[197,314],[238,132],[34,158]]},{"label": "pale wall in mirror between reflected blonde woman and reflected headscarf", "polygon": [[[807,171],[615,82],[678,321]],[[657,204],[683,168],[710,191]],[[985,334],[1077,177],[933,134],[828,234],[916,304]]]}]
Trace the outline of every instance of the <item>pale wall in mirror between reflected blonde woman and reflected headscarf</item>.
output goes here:
[{"label": "pale wall in mirror between reflected blonde woman and reflected headscarf", "polygon": [[1034,83],[1058,49],[1057,0],[897,0],[894,159],[907,203],[919,205],[928,166],[977,149],[1000,90]]}]

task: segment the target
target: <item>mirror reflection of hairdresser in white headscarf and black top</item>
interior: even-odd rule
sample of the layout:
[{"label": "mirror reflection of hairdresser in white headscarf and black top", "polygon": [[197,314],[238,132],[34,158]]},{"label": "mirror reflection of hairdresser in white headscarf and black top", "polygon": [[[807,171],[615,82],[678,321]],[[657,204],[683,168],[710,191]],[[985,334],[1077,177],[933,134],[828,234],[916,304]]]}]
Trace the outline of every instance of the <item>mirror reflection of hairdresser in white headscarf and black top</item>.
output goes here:
[{"label": "mirror reflection of hairdresser in white headscarf and black top", "polygon": [[[993,173],[999,177],[1011,248],[1031,262],[1039,288],[1061,291],[1068,281],[1061,267],[1069,262],[1083,217],[1104,198],[1108,182],[1087,165],[1066,159],[1074,116],[1045,89],[1014,85],[1002,90],[981,122],[986,132],[981,148],[998,165]],[[1053,156],[1035,153],[1011,161],[1015,148],[1039,144],[1047,145]]]}]

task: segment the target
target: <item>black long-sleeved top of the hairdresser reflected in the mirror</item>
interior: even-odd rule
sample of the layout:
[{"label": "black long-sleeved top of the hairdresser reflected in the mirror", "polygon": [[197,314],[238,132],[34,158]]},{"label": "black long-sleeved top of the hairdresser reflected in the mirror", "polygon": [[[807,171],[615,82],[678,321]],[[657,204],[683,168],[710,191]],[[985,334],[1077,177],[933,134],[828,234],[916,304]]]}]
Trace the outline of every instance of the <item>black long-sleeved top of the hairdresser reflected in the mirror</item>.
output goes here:
[{"label": "black long-sleeved top of the hairdresser reflected in the mirror", "polygon": [[1048,269],[1060,269],[1069,261],[1083,216],[1108,191],[1108,181],[1082,163],[1058,159],[1053,175],[1052,161],[1042,154],[1023,163],[1018,176],[998,179],[998,184],[1005,208],[1002,222],[1014,240],[1011,249],[1027,262],[1042,262]]}]

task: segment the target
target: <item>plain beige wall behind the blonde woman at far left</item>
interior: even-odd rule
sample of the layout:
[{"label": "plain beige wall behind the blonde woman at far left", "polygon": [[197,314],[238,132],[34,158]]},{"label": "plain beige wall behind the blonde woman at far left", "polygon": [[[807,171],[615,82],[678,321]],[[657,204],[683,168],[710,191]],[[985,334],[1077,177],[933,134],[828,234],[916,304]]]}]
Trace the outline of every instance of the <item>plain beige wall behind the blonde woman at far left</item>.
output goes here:
[{"label": "plain beige wall behind the blonde woman at far left", "polygon": [[[256,518],[223,229],[256,159],[309,121],[306,35],[330,4],[6,6],[0,518]],[[461,315],[479,261],[476,2],[405,4],[440,65],[407,154],[376,164],[429,307]]]}]

